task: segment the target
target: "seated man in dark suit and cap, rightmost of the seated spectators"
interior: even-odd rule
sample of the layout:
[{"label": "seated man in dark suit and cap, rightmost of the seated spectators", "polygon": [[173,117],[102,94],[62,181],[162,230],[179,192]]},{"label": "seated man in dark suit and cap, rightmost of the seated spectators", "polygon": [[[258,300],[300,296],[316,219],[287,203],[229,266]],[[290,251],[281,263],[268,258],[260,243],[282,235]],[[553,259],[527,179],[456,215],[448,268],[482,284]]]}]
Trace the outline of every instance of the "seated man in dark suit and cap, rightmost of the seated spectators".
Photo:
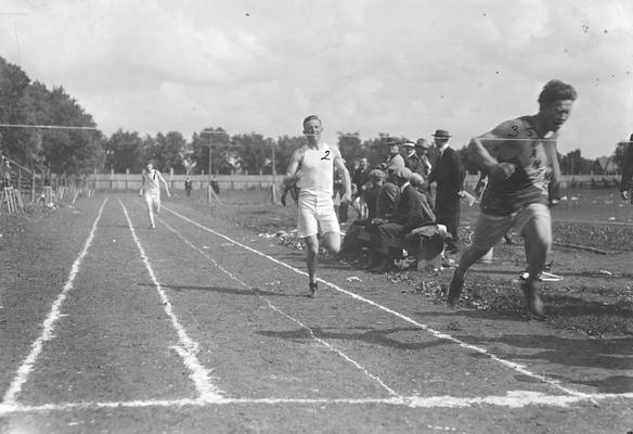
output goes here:
[{"label": "seated man in dark suit and cap, rightmost of the seated spectators", "polygon": [[396,210],[389,218],[374,218],[372,224],[376,226],[373,238],[374,263],[371,271],[383,272],[389,269],[392,257],[391,248],[402,248],[404,235],[427,221],[432,221],[432,216],[425,213],[428,205],[423,206],[424,196],[411,187],[411,170],[408,168],[396,169],[392,174],[398,189],[400,201]]}]

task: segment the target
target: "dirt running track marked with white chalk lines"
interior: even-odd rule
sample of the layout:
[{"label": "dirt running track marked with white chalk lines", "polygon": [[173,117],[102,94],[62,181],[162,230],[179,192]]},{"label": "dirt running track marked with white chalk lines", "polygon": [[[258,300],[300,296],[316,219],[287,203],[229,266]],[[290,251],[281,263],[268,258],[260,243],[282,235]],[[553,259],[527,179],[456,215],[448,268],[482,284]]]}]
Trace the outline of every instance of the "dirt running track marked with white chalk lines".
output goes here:
[{"label": "dirt running track marked with white chalk lines", "polygon": [[631,339],[332,264],[310,299],[301,253],[169,202],[148,230],[132,195],[2,242],[2,433],[633,431]]}]

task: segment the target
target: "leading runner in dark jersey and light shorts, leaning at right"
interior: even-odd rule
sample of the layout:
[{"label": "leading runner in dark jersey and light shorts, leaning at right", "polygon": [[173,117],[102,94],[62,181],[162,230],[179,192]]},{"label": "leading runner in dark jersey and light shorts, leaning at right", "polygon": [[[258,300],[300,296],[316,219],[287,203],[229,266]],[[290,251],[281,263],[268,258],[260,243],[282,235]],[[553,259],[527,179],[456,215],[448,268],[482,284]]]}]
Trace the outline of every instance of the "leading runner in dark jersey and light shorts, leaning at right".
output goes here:
[{"label": "leading runner in dark jersey and light shorts, leaning at right", "polygon": [[528,310],[543,315],[537,282],[552,246],[548,192],[558,191],[560,179],[557,131],[569,117],[576,97],[570,85],[551,80],[539,95],[539,113],[506,120],[470,141],[469,149],[489,173],[489,184],[481,197],[473,244],[462,254],[451,280],[449,305],[457,303],[468,268],[515,227],[526,241],[528,278],[522,290]]}]

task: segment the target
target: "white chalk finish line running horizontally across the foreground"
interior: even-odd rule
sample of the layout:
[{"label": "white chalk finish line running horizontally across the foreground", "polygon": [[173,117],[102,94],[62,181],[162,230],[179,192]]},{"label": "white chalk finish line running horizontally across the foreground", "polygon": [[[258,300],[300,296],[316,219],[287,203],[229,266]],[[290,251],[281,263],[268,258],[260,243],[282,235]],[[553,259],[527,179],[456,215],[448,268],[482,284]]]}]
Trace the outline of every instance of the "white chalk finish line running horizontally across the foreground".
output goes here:
[{"label": "white chalk finish line running horizontally across the foreground", "polygon": [[183,408],[183,407],[211,407],[227,405],[388,405],[409,408],[435,409],[435,408],[525,408],[525,407],[560,407],[569,408],[573,405],[595,404],[609,400],[610,405],[618,401],[633,399],[633,393],[625,394],[592,394],[585,396],[546,395],[540,392],[511,391],[506,395],[475,396],[470,398],[450,395],[440,396],[405,396],[401,398],[260,398],[242,399],[225,398],[218,401],[203,399],[150,399],[106,403],[64,403],[44,404],[41,406],[21,406],[0,404],[0,417],[15,413],[46,413],[52,411],[76,411],[122,408]]}]

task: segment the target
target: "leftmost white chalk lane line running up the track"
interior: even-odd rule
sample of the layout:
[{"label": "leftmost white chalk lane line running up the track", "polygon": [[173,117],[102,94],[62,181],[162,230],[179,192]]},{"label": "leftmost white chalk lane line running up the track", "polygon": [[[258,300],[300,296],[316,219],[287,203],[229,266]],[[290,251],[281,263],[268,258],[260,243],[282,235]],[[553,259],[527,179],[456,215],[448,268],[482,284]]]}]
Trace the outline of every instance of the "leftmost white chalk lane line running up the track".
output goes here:
[{"label": "leftmost white chalk lane line running up the track", "polygon": [[86,254],[88,253],[88,248],[90,248],[90,245],[92,244],[92,240],[94,239],[94,232],[96,231],[96,224],[101,219],[101,214],[103,213],[103,207],[105,206],[106,202],[107,202],[107,196],[104,199],[103,203],[101,204],[101,208],[99,208],[99,214],[96,215],[96,218],[94,219],[94,222],[92,224],[92,229],[90,230],[90,234],[88,235],[88,239],[83,243],[83,248],[81,250],[81,252],[79,253],[79,256],[77,256],[77,259],[75,259],[75,261],[73,263],[73,266],[70,267],[70,273],[68,275],[68,279],[66,280],[66,283],[64,284],[62,292],[60,293],[60,295],[57,295],[57,298],[55,298],[55,301],[53,302],[53,305],[51,306],[51,310],[49,311],[49,315],[43,322],[43,327],[42,327],[43,330],[42,330],[41,335],[31,344],[30,353],[28,354],[26,359],[22,362],[22,366],[17,369],[17,374],[15,375],[15,378],[13,379],[13,382],[11,383],[11,385],[9,386],[7,392],[4,393],[4,399],[3,399],[4,404],[8,404],[8,405],[15,404],[15,398],[17,397],[20,392],[22,391],[22,386],[24,386],[24,384],[28,380],[28,375],[33,371],[35,362],[42,350],[43,343],[47,341],[51,341],[54,337],[53,329],[55,327],[55,322],[62,317],[62,304],[66,299],[66,295],[68,294],[68,292],[70,292],[70,290],[73,289],[73,284],[75,283],[75,278],[77,277],[77,273],[79,272],[79,265],[83,260],[83,257],[86,257]]}]

